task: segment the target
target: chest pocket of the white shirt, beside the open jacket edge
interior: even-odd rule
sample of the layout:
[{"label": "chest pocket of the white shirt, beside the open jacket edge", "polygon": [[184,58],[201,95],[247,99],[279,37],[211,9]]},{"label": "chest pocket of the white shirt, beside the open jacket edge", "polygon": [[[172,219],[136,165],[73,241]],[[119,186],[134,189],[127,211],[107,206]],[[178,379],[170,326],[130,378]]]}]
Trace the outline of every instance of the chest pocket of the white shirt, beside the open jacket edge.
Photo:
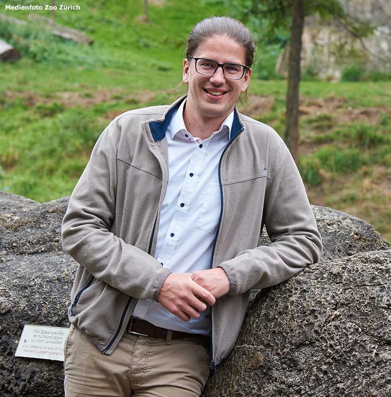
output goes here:
[{"label": "chest pocket of the white shirt, beside the open jacket edge", "polygon": [[218,182],[207,186],[197,227],[209,233],[216,233],[221,211],[221,192]]}]

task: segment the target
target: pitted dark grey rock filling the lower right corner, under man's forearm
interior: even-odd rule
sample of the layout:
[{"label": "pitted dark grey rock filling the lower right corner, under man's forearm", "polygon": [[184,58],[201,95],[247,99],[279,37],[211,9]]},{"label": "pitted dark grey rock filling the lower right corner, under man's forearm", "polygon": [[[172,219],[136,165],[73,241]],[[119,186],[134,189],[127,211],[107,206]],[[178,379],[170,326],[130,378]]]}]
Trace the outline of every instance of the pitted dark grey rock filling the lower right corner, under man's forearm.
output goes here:
[{"label": "pitted dark grey rock filling the lower right corner, under man's forearm", "polygon": [[265,293],[208,397],[391,395],[391,250],[311,266]]}]

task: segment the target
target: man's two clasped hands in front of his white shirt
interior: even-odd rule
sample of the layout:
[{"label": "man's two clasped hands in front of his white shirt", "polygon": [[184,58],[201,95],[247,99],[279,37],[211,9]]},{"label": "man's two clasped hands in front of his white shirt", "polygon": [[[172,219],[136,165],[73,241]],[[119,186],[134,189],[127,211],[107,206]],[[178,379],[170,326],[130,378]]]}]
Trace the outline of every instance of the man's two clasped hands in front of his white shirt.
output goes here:
[{"label": "man's two clasped hands in front of his white shirt", "polygon": [[183,321],[199,318],[200,312],[213,306],[227,294],[230,282],[222,268],[194,273],[171,273],[165,279],[157,298],[163,308]]}]

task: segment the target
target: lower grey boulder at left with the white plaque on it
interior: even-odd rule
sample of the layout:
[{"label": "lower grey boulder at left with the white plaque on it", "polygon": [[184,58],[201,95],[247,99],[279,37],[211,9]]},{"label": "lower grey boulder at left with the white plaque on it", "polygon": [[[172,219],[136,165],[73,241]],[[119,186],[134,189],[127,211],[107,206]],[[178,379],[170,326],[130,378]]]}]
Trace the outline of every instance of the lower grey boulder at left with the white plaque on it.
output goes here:
[{"label": "lower grey boulder at left with the white plaque on it", "polygon": [[19,255],[0,263],[0,395],[48,397],[63,392],[63,363],[15,357],[25,324],[69,327],[76,263],[61,252]]}]

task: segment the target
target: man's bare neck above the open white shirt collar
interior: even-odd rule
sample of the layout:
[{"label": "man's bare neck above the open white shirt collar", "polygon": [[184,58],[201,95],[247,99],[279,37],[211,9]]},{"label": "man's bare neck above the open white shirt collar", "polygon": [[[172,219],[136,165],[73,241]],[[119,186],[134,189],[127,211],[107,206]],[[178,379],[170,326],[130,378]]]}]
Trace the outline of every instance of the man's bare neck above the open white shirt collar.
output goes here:
[{"label": "man's bare neck above the open white shirt collar", "polygon": [[215,131],[217,131],[228,116],[228,114],[213,118],[207,117],[206,115],[199,116],[195,112],[192,112],[186,104],[187,102],[183,109],[184,125],[193,137],[199,137],[202,140],[208,139]]}]

